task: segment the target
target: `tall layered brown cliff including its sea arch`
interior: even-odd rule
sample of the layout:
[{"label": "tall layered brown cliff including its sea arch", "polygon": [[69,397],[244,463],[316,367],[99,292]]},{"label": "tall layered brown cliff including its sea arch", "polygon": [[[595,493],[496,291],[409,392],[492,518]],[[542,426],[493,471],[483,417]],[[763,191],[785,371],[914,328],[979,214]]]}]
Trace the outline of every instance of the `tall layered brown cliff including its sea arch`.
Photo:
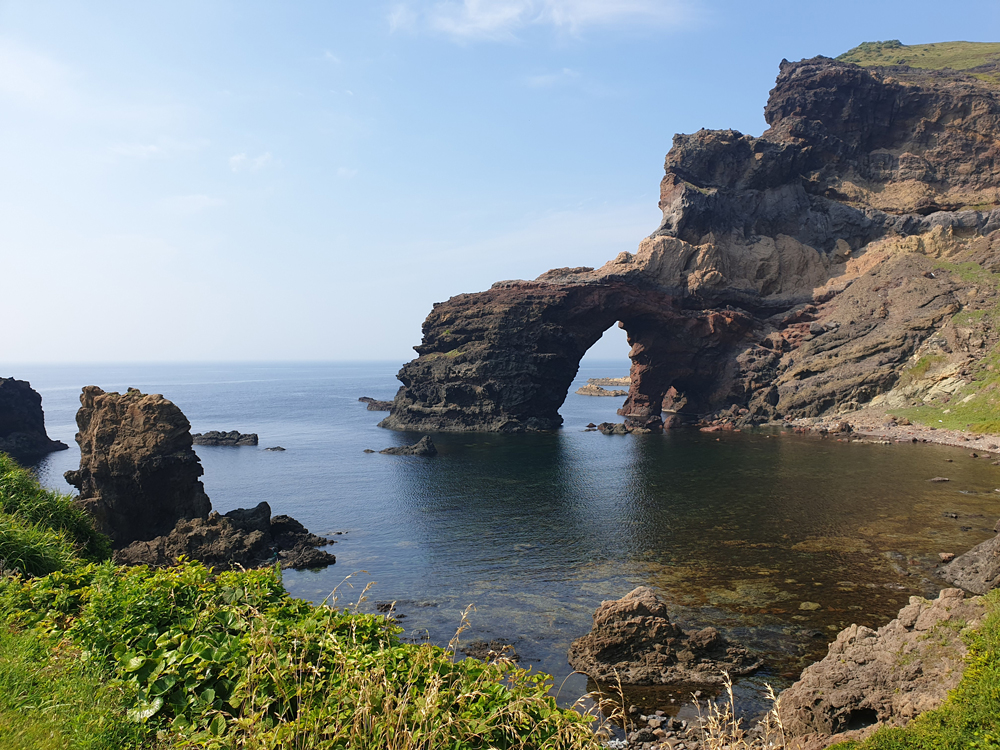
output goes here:
[{"label": "tall layered brown cliff including its sea arch", "polygon": [[[942,377],[971,380],[1000,308],[1000,89],[783,61],[765,117],[759,138],[674,138],[663,221],[635,253],[435,305],[382,425],[556,427],[580,358],[616,321],[634,426],[732,405],[758,422],[911,405]],[[933,372],[915,368],[925,356]]]}]

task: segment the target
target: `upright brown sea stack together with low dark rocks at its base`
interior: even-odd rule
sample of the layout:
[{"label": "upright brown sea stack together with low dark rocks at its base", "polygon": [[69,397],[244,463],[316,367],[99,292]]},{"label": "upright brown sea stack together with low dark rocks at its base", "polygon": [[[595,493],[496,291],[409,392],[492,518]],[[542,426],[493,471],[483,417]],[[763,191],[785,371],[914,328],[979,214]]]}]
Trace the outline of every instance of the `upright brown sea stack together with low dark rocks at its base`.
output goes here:
[{"label": "upright brown sea stack together with low dark rocks at its base", "polygon": [[80,396],[80,468],[66,480],[77,503],[111,537],[123,564],[170,565],[180,555],[218,568],[323,567],[330,544],[267,503],[224,516],[212,512],[199,477],[191,425],[177,406],[135,388],[105,393],[87,386]]}]

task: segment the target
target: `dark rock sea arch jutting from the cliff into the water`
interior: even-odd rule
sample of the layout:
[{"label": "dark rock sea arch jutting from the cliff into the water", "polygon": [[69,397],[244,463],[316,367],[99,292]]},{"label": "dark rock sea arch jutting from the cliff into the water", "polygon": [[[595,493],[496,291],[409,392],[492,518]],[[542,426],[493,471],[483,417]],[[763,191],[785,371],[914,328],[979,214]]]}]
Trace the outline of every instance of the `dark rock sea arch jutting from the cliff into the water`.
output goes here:
[{"label": "dark rock sea arch jutting from the cliff into the water", "polygon": [[619,321],[632,362],[619,413],[651,429],[662,426],[665,405],[698,412],[728,395],[728,368],[751,325],[746,313],[688,310],[662,289],[634,283],[501,282],[434,306],[382,426],[555,429],[580,360]]}]

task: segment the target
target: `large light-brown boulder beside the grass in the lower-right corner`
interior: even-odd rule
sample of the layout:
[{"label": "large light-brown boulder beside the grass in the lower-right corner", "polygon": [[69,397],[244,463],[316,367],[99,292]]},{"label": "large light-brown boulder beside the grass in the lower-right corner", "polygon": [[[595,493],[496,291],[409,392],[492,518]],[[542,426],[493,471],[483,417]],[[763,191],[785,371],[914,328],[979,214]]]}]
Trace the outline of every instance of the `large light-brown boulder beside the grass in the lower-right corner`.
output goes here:
[{"label": "large light-brown boulder beside the grass in the lower-right corner", "polygon": [[842,630],[827,656],[781,693],[786,733],[800,738],[804,750],[823,748],[936,708],[965,669],[962,630],[984,615],[980,599],[945,589],[934,601],[911,597],[877,631]]}]

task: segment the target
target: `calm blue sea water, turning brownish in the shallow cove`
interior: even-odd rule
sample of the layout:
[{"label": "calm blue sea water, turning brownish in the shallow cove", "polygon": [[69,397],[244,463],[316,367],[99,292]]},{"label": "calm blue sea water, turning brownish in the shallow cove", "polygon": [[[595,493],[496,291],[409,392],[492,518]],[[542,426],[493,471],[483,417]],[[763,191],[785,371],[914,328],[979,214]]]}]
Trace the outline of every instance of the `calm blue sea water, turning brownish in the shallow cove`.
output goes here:
[{"label": "calm blue sea water, turning brownish in the shallow cove", "polygon": [[[196,446],[214,508],[262,500],[336,540],[337,563],[286,571],[288,590],[338,604],[396,602],[407,637],[510,641],[571,703],[587,690],[566,661],[604,599],[656,588],[685,627],[714,625],[760,651],[743,680],[783,687],[841,628],[878,627],[911,595],[934,595],[939,552],[992,534],[1000,467],[968,451],[772,431],[605,436],[619,398],[572,393],[627,362],[586,362],[553,433],[435,434],[433,458],[366,454],[420,435],[383,430],[359,396],[391,399],[394,363],[18,366],[43,397],[49,435],[71,445],[37,466],[69,492],[80,389],[162,393],[194,432],[239,430],[260,446]],[[285,452],[264,448],[280,445]],[[948,483],[930,483],[934,476]],[[681,705],[688,690],[630,699]],[[670,704],[670,699],[676,702]],[[668,705],[669,704],[669,705]],[[685,709],[687,710],[687,709]]]}]

